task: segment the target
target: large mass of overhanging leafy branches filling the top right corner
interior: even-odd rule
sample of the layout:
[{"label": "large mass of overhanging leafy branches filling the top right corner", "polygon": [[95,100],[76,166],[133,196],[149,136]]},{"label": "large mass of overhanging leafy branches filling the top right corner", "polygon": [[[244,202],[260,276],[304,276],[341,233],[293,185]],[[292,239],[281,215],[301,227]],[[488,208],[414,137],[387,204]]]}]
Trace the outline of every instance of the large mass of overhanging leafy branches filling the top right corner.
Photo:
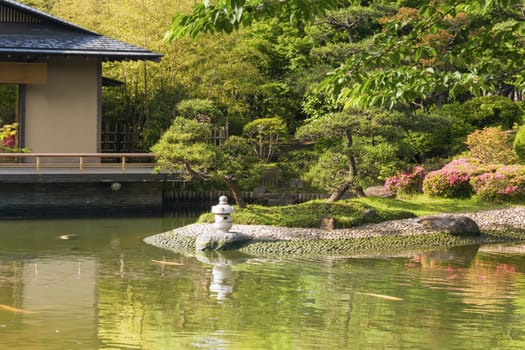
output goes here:
[{"label": "large mass of overhanging leafy branches filling the top right corner", "polygon": [[350,55],[320,88],[359,109],[521,91],[524,53],[516,43],[525,21],[514,4],[446,0],[402,7],[385,19],[372,48]]}]

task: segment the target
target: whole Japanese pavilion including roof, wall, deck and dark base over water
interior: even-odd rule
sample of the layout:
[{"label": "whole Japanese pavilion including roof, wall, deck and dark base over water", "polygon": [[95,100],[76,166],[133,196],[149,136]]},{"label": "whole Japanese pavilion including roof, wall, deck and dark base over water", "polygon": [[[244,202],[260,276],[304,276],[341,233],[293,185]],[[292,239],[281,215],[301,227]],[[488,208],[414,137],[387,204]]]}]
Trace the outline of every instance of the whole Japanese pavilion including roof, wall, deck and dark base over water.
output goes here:
[{"label": "whole Japanese pavilion including roof, wall, deck and dark base over water", "polygon": [[[160,58],[0,0],[0,90],[16,100],[12,112],[0,108],[0,126],[16,126],[9,146],[29,150],[0,151],[0,217],[159,212],[166,182],[176,179],[154,172],[151,162],[127,162],[129,157],[153,160],[151,153],[101,152],[101,95],[108,81],[102,77],[103,62]],[[5,101],[0,98],[0,107]]]}]

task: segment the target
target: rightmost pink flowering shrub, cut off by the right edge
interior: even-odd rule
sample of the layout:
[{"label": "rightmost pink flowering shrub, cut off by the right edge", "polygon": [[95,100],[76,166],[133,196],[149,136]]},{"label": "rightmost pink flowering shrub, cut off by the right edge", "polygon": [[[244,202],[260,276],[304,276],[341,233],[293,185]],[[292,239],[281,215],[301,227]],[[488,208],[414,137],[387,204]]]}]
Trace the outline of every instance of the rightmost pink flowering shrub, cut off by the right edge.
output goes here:
[{"label": "rightmost pink flowering shrub, cut off by the right edge", "polygon": [[525,166],[501,166],[471,180],[480,199],[510,202],[525,199]]}]

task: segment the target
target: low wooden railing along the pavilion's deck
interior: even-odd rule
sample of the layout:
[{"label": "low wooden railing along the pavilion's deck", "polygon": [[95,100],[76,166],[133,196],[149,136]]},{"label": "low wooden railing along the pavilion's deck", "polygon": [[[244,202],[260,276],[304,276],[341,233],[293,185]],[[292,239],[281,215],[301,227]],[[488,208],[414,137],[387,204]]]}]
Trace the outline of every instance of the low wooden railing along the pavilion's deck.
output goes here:
[{"label": "low wooden railing along the pavilion's deck", "polygon": [[[86,167],[119,166],[125,172],[130,166],[153,167],[154,158],[153,153],[0,153],[0,167],[32,167],[37,171],[59,167],[82,171]],[[117,161],[108,162],[111,159]],[[130,163],[131,159],[141,161]]]}]

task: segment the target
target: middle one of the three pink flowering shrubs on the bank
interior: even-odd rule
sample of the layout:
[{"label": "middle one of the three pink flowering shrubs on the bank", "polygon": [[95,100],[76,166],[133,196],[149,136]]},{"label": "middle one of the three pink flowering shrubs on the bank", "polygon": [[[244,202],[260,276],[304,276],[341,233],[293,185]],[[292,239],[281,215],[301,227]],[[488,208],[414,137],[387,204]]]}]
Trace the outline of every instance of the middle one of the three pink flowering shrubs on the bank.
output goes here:
[{"label": "middle one of the three pink flowering shrubs on the bank", "polygon": [[469,198],[473,193],[470,179],[488,171],[478,159],[456,159],[441,170],[430,172],[423,181],[423,193],[445,198]]}]

